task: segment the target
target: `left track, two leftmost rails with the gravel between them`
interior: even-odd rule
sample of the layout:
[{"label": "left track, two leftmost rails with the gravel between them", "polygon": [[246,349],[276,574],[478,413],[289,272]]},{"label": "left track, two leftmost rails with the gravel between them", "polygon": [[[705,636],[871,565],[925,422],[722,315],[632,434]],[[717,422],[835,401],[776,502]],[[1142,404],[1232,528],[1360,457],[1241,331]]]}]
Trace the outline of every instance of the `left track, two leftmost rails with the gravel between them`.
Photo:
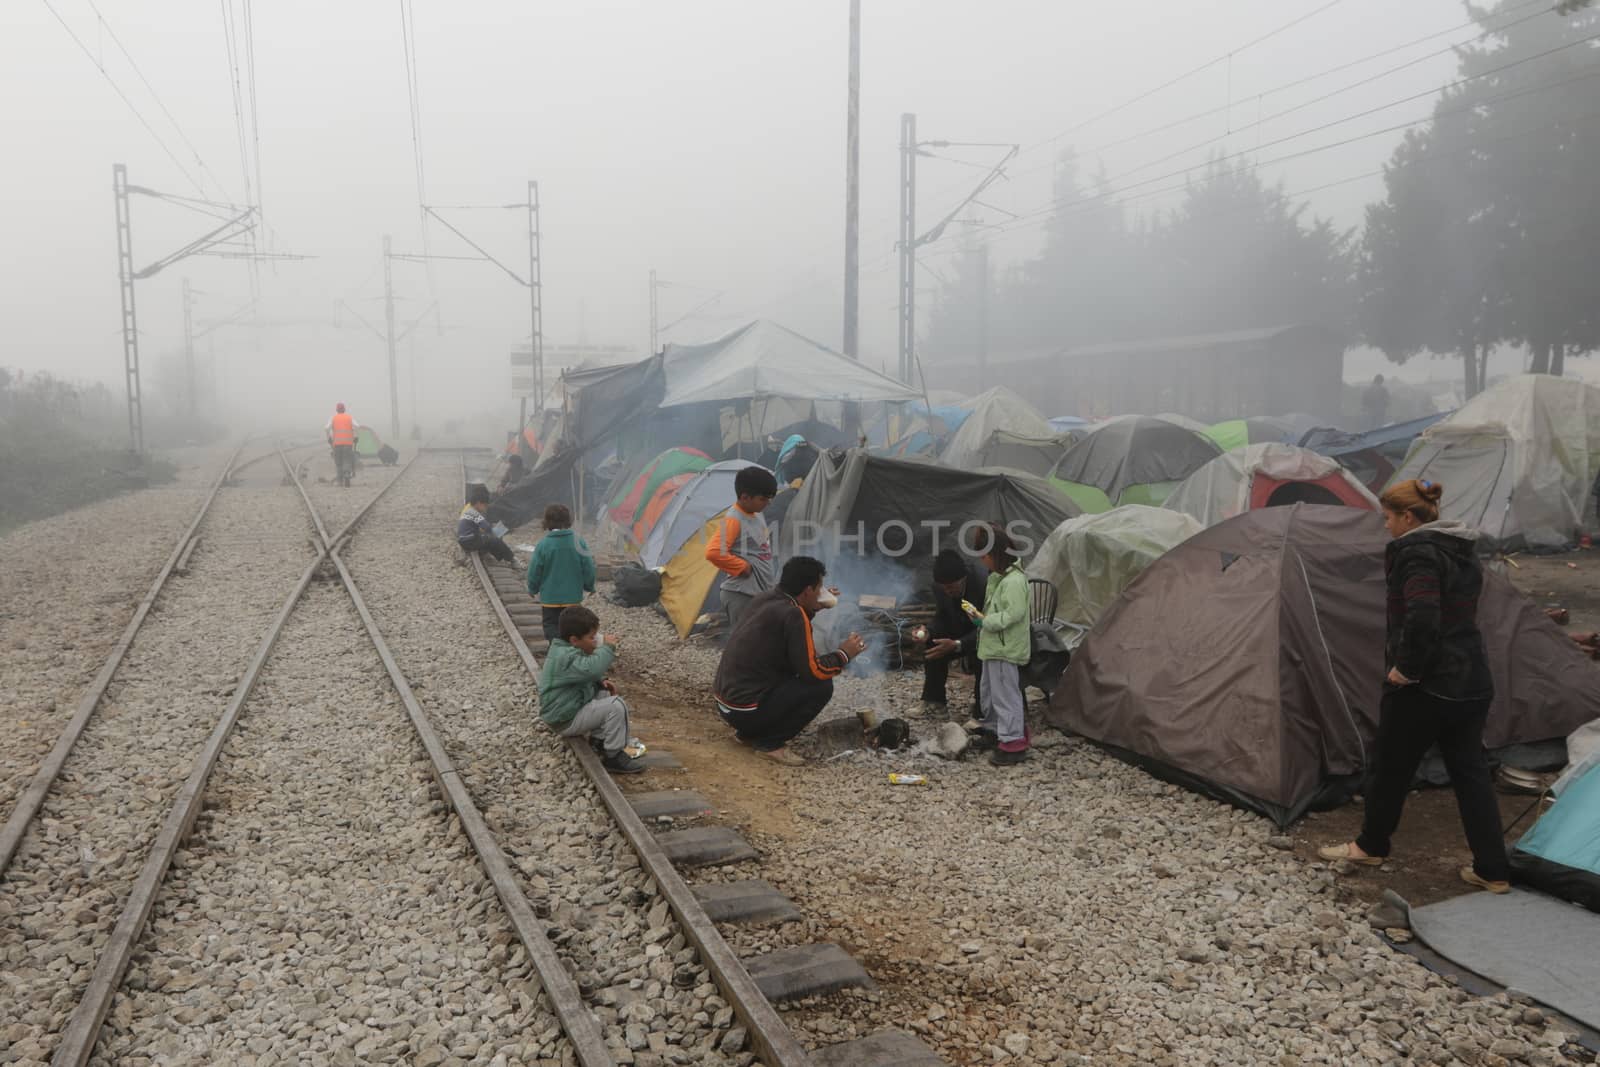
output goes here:
[{"label": "left track, two leftmost rails with the gravel between them", "polygon": [[[325,557],[288,482],[242,477],[238,456],[6,822],[6,1059],[86,1061],[227,729]],[[280,603],[285,585],[293,592]]]}]

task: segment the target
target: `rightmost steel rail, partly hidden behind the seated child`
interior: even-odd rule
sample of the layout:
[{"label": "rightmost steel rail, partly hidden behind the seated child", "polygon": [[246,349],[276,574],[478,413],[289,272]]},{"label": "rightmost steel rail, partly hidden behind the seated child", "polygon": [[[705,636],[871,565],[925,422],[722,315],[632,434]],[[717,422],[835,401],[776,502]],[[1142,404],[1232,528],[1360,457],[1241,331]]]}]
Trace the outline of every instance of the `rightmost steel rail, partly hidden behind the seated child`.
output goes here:
[{"label": "rightmost steel rail, partly hidden behind the seated child", "polygon": [[[494,582],[490,579],[488,568],[483,566],[483,557],[477,552],[470,555],[478,582],[483,585],[483,592],[488,593],[490,605],[494,608],[494,614],[499,617],[507,637],[510,637],[517,656],[528,673],[538,678],[539,661],[534,657],[533,649],[528,648],[528,641],[494,592]],[[755,979],[750,977],[738,953],[723,939],[717,925],[706,915],[706,909],[701,907],[693,889],[683,881],[677,867],[672,865],[672,861],[667,859],[667,854],[645,827],[643,819],[627,803],[627,797],[606,773],[589,741],[586,737],[568,737],[566,747],[576,757],[589,782],[600,793],[602,803],[611,813],[627,843],[638,854],[640,865],[656,880],[661,896],[667,901],[667,907],[672,909],[678,925],[683,926],[685,937],[688,937],[690,944],[694,945],[701,960],[710,969],[712,979],[715,979],[723,998],[733,1008],[733,1014],[744,1024],[746,1032],[750,1035],[750,1049],[768,1067],[805,1067],[808,1062],[805,1046],[795,1040],[794,1033],[784,1024],[782,1016],[778,1014],[778,1009],[773,1008],[771,1001],[755,985]]]}]

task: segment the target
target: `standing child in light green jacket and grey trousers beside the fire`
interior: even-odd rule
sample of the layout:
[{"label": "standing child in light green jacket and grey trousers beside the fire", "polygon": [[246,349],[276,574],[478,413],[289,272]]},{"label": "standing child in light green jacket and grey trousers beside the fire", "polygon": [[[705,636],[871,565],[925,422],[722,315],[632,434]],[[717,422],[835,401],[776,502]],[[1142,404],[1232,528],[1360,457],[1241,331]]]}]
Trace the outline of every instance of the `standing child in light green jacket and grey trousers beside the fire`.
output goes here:
[{"label": "standing child in light green jacket and grey trousers beside the fire", "polygon": [[1029,744],[1021,675],[1032,653],[1027,574],[1002,526],[990,523],[987,539],[984,611],[968,613],[978,624],[978,659],[984,664],[978,683],[978,701],[984,710],[981,733],[987,733],[982,741],[994,739],[995,744],[990,763],[1016,766],[1027,758]]}]

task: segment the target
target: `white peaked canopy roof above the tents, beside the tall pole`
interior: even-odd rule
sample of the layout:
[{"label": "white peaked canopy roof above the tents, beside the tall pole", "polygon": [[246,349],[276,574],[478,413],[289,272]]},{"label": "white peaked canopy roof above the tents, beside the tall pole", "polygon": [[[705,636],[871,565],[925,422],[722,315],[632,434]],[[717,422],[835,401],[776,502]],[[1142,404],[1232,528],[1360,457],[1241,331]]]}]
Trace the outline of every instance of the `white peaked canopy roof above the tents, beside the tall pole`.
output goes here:
[{"label": "white peaked canopy roof above the tents, beside the tall pole", "polygon": [[662,408],[768,398],[874,403],[922,395],[765,318],[706,344],[669,344],[662,370]]}]

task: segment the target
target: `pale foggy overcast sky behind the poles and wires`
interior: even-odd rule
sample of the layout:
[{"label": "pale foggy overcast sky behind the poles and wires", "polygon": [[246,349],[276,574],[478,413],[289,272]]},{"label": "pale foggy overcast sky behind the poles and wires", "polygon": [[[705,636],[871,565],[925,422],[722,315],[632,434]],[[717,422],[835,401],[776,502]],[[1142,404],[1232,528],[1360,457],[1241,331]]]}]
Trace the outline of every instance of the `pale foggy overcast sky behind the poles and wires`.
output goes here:
[{"label": "pale foggy overcast sky behind the poles and wires", "polygon": [[[243,11],[243,0],[229,2]],[[760,315],[840,344],[846,0],[413,5],[424,195],[434,205],[504,205],[525,198],[530,178],[539,181],[547,346],[582,339],[642,354],[651,269],[682,286],[661,291],[662,323],[723,293],[667,339],[701,339]],[[984,197],[994,205],[978,211],[984,221],[1005,222],[1003,211],[1026,216],[1046,203],[1051,163],[1069,144],[1138,197],[1130,206],[1160,210],[1173,197],[1149,194],[1168,189],[1210,150],[1272,160],[1424,117],[1427,99],[1272,144],[1448,82],[1453,58],[1429,53],[1470,37],[1458,29],[1282,88],[1461,27],[1467,16],[1456,0],[864,0],[862,8],[862,357],[877,366],[894,360],[901,112],[917,112],[923,139],[1024,146],[1011,181]],[[1251,46],[1301,16],[1301,24]],[[394,235],[397,251],[424,246],[400,5],[274,0],[254,5],[253,24],[261,187],[251,162],[251,197],[259,195],[270,248],[315,259],[262,266],[258,325],[216,328],[200,352],[214,350],[224,362],[227,397],[237,405],[290,403],[314,418],[344,398],[381,426],[384,344],[338,304],[346,301],[381,328],[382,235]],[[226,42],[222,11],[210,0],[5,5],[0,365],[120,381],[112,163],[125,162],[134,184],[197,195],[96,62],[206,197],[246,202]],[[1370,85],[1270,118],[1410,61]],[[1203,64],[1211,66],[1088,122]],[[1150,133],[1200,112],[1214,114]],[[254,160],[248,114],[245,125]],[[1398,136],[1365,138],[1266,173],[1291,194],[1341,182],[1309,200],[1354,227],[1381,181],[1346,179],[1376,170]],[[947,155],[982,163],[997,150]],[[920,173],[925,226],[981,178],[979,170],[933,160]],[[525,213],[443,214],[526,272]],[[138,266],[211,224],[134,198]],[[1010,230],[995,238],[992,256],[997,264],[1014,261],[1035,240],[1034,227]],[[939,269],[954,246],[950,240],[928,250],[930,266]],[[427,229],[427,248],[470,254],[438,224]],[[421,358],[424,422],[442,406],[501,418],[506,352],[528,336],[526,290],[485,262],[435,262],[432,272],[395,262],[394,275],[402,326],[432,299],[440,304],[438,322],[429,318],[400,349],[402,371],[413,346]],[[190,259],[141,282],[149,368],[182,347],[184,277],[202,293],[197,328],[250,299],[248,267],[232,259]],[[923,282],[934,285],[926,274]],[[406,411],[408,381],[400,395]]]}]

